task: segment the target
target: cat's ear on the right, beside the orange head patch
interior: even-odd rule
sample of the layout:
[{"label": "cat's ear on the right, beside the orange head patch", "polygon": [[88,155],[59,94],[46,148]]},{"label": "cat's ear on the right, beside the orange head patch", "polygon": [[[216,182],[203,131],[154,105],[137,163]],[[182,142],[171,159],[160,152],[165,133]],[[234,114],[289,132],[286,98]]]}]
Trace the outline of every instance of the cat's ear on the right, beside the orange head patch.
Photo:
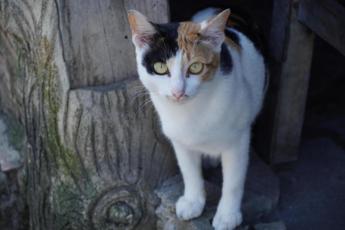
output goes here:
[{"label": "cat's ear on the right, beside the orange head patch", "polygon": [[200,38],[210,41],[215,47],[224,42],[224,29],[226,21],[230,15],[230,9],[226,9],[217,16],[201,22],[201,25],[206,24],[206,27],[199,31]]}]

